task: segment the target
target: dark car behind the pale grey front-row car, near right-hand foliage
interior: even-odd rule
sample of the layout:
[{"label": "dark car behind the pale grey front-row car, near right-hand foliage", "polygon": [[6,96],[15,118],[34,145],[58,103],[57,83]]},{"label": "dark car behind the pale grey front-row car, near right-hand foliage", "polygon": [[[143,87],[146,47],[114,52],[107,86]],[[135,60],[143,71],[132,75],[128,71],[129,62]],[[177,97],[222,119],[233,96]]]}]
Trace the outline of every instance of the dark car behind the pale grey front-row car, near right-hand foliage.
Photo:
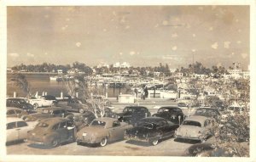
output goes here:
[{"label": "dark car behind the pale grey front-row car, near right-hand foliage", "polygon": [[212,118],[214,120],[219,120],[220,118],[218,109],[208,107],[201,107],[196,109],[194,115],[206,116],[207,118]]}]

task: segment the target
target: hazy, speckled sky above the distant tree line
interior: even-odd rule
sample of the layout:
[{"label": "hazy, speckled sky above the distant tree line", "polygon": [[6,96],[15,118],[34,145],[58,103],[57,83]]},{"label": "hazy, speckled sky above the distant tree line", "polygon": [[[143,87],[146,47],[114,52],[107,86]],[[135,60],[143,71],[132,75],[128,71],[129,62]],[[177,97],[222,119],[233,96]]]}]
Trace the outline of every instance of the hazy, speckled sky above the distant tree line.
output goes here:
[{"label": "hazy, speckled sky above the distant tree line", "polygon": [[[8,7],[7,65],[250,62],[249,6]],[[194,59],[193,59],[194,58]]]}]

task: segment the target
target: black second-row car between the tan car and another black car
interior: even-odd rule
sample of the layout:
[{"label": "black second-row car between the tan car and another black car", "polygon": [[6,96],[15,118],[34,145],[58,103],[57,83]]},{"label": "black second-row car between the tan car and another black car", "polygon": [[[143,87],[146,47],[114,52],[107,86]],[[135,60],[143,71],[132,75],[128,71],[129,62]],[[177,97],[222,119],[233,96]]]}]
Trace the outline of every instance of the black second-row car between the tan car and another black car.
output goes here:
[{"label": "black second-row car between the tan car and another black car", "polygon": [[118,115],[119,121],[124,121],[132,125],[134,125],[137,120],[151,116],[148,109],[143,106],[126,106],[125,109],[123,109],[123,113]]}]

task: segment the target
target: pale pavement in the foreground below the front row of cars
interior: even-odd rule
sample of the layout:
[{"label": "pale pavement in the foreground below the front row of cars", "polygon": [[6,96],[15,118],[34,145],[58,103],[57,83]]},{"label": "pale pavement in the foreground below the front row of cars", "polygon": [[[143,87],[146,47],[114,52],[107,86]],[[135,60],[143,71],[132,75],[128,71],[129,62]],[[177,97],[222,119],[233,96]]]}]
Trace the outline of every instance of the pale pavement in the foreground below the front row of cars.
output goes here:
[{"label": "pale pavement in the foreground below the front row of cars", "polygon": [[156,146],[144,142],[119,141],[105,147],[77,145],[76,142],[62,144],[57,148],[46,148],[28,142],[7,146],[7,154],[37,155],[119,155],[119,156],[182,156],[186,148],[195,142],[177,142],[174,138],[166,139]]}]

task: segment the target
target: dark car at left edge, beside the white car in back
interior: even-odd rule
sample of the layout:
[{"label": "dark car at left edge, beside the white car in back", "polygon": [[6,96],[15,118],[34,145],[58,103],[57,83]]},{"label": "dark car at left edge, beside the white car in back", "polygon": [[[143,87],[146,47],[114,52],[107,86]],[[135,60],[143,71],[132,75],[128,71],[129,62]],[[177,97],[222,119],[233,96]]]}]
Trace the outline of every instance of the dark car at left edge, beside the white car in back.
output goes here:
[{"label": "dark car at left edge, beside the white car in back", "polygon": [[32,109],[34,109],[32,104],[26,103],[26,99],[24,99],[24,98],[7,98],[6,106],[23,109],[28,112],[30,112],[30,111],[32,111]]}]

